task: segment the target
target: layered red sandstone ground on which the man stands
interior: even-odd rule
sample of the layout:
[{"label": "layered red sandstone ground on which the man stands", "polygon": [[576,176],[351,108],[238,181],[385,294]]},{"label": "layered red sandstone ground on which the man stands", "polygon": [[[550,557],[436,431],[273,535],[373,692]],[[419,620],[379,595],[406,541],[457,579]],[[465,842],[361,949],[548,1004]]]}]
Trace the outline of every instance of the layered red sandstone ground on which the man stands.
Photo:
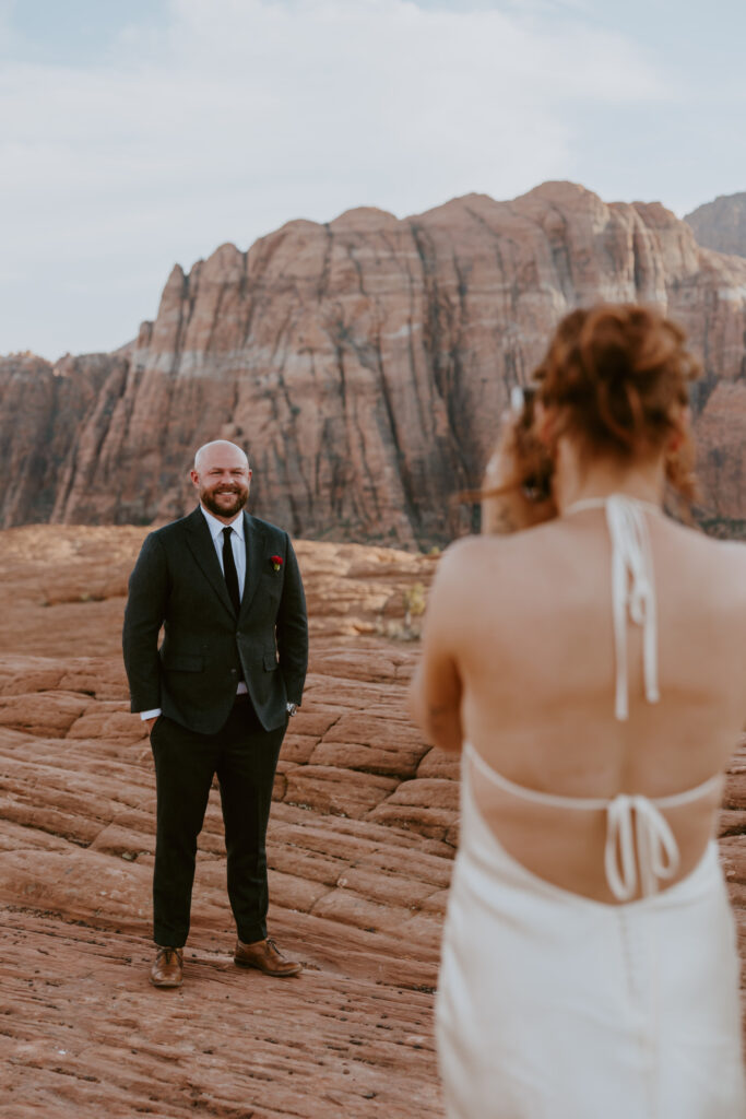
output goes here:
[{"label": "layered red sandstone ground on which the man stands", "polygon": [[[154,789],[120,628],[142,528],[0,537],[0,1117],[440,1119],[433,991],[457,763],[404,707],[435,561],[299,543],[312,661],[270,826],[271,929],[298,980],[230,960],[217,793],[186,982],[154,991]],[[389,634],[389,636],[386,636]],[[746,958],[746,742],[720,847]]]}]

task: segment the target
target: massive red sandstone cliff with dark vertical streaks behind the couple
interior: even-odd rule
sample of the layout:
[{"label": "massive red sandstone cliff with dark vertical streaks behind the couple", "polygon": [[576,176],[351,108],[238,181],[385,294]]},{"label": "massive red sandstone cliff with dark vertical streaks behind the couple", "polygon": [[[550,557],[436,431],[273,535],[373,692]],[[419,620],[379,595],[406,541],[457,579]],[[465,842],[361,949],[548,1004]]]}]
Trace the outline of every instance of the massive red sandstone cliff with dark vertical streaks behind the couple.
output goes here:
[{"label": "massive red sandstone cliff with dark vertical streaks behind the couple", "polygon": [[512,385],[557,319],[598,299],[662,304],[706,376],[702,515],[746,525],[746,261],[659,204],[569,182],[417,217],[291,222],[174,267],[158,318],[114,356],[0,363],[0,525],[143,524],[191,504],[190,454],[245,443],[255,508],[294,535],[427,547],[470,526]]}]

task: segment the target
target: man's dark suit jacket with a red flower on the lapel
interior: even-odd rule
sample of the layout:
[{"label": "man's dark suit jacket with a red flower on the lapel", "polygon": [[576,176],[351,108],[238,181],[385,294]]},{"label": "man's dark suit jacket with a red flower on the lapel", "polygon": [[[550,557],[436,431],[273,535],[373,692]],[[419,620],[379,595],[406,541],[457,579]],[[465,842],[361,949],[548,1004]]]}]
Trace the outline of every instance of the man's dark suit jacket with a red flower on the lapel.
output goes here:
[{"label": "man's dark suit jacket with a red flower on the lapel", "polygon": [[[160,707],[177,723],[214,734],[242,677],[267,731],[282,725],[289,700],[301,702],[309,638],[295,553],[281,528],[246,513],[244,526],[238,618],[199,507],[147,537],[130,576],[122,636],[133,712]],[[283,561],[280,571],[274,555]]]}]

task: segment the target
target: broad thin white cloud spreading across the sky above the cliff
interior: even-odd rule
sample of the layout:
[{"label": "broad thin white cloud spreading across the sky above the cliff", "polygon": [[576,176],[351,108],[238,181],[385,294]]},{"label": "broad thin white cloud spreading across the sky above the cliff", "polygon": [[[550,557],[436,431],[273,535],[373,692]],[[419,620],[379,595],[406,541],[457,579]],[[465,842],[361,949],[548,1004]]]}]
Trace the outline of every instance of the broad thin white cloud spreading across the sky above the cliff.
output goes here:
[{"label": "broad thin white cloud spreading across the sky above the cliff", "polygon": [[100,65],[6,63],[4,270],[25,280],[0,276],[18,300],[0,351],[113,348],[173,260],[293,217],[570,177],[584,102],[669,97],[620,35],[410,0],[173,0],[164,29],[123,28]]}]

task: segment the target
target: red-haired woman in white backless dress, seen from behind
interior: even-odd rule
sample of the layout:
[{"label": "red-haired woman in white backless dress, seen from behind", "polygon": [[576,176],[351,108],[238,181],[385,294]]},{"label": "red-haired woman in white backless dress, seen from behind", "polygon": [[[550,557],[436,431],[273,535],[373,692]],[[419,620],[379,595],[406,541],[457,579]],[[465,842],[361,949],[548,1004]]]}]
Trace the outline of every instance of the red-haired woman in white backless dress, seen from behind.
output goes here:
[{"label": "red-haired woman in white backless dress, seen from behind", "polygon": [[462,752],[448,1119],[746,1116],[715,840],[746,720],[746,547],[662,513],[667,482],[690,492],[693,370],[654,311],[568,316],[488,470],[488,526],[525,530],[438,566],[412,703]]}]

